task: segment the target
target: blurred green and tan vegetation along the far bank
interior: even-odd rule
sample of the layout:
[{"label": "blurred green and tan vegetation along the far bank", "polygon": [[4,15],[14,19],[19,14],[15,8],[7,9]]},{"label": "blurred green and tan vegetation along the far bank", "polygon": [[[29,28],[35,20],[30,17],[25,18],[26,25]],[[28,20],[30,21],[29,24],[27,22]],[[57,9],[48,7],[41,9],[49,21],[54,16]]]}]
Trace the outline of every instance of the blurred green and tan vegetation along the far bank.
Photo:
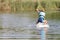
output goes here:
[{"label": "blurred green and tan vegetation along the far bank", "polygon": [[60,11],[60,0],[0,0],[0,12],[35,11],[37,6],[46,11]]}]

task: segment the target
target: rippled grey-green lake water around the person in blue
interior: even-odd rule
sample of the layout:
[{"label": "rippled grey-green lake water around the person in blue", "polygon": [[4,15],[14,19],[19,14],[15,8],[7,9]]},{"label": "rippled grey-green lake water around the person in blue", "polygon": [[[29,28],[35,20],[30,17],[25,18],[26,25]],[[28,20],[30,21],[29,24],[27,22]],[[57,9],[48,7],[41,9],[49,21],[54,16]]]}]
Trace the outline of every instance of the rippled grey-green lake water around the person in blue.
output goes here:
[{"label": "rippled grey-green lake water around the person in blue", "polygon": [[[50,28],[47,40],[60,40],[60,12],[46,12]],[[1,13],[1,40],[40,40],[39,30],[36,28],[38,14],[34,12]]]}]

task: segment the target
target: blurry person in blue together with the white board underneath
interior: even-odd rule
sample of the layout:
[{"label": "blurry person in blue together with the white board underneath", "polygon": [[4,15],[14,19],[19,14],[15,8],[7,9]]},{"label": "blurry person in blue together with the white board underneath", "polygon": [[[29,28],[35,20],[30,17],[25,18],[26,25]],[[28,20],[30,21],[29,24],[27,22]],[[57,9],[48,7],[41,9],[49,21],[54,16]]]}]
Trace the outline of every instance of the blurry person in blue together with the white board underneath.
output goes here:
[{"label": "blurry person in blue together with the white board underneath", "polygon": [[49,25],[47,20],[45,20],[45,12],[39,9],[36,9],[36,11],[38,12],[39,15],[36,27],[38,29],[41,29],[43,27],[45,32],[47,32]]}]

